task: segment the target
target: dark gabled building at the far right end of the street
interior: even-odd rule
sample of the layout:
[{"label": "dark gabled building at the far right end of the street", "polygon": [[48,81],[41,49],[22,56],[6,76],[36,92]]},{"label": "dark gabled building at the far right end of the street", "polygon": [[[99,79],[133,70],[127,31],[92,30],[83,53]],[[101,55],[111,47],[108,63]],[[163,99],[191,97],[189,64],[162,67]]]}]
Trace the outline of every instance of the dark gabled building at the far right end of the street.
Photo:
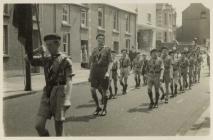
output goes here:
[{"label": "dark gabled building at the far right end of the street", "polygon": [[205,44],[210,38],[210,11],[201,3],[192,3],[182,12],[182,26],[178,28],[177,40]]}]

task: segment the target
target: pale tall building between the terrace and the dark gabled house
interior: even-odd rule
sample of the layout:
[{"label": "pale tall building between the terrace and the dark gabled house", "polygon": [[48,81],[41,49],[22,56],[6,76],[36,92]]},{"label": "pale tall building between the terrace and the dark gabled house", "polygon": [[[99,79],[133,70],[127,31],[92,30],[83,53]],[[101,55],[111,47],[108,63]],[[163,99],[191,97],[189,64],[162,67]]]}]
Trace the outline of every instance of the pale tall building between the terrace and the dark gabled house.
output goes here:
[{"label": "pale tall building between the terrace and the dark gabled house", "polygon": [[158,42],[172,42],[176,32],[176,11],[167,3],[123,4],[137,12],[137,48],[149,51]]}]

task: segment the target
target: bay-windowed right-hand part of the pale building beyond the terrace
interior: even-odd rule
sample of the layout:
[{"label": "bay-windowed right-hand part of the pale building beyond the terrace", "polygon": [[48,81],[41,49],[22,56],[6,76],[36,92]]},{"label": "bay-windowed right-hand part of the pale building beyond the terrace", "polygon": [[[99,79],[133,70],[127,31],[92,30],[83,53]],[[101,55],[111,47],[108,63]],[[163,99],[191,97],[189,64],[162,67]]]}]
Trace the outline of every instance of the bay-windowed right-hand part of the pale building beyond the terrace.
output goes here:
[{"label": "bay-windowed right-hand part of the pale building beyond the terrace", "polygon": [[158,3],[156,5],[157,41],[173,42],[176,39],[176,11],[172,5]]}]

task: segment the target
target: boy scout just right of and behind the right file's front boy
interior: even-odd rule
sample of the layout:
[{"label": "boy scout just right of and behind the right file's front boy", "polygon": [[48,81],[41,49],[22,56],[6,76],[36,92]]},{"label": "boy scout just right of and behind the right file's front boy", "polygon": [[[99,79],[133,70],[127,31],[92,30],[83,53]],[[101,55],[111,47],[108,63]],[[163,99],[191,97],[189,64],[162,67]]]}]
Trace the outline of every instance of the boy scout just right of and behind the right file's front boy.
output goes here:
[{"label": "boy scout just right of and behind the right file's front boy", "polygon": [[165,103],[168,103],[168,95],[169,95],[169,85],[171,84],[172,79],[172,59],[168,55],[168,48],[163,47],[162,48],[162,60],[164,64],[164,76],[163,80],[165,82]]}]

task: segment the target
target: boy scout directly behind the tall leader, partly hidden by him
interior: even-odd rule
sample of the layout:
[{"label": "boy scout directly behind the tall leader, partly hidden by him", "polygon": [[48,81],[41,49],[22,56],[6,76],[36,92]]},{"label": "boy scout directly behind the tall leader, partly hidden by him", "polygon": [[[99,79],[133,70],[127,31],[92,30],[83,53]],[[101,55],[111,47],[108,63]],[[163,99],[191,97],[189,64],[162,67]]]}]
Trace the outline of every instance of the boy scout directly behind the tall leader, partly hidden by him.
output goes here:
[{"label": "boy scout directly behind the tall leader, partly hidden by him", "polygon": [[[110,96],[109,96],[109,99],[111,99],[112,97],[115,98],[115,96],[117,95],[117,92],[118,92],[118,84],[117,84],[118,83],[118,61],[115,59],[116,52],[111,51],[111,53],[112,53],[113,62],[112,62],[112,69],[110,72],[110,87],[109,87]],[[114,95],[112,93],[112,81],[114,84],[114,91],[115,91]]]}]

